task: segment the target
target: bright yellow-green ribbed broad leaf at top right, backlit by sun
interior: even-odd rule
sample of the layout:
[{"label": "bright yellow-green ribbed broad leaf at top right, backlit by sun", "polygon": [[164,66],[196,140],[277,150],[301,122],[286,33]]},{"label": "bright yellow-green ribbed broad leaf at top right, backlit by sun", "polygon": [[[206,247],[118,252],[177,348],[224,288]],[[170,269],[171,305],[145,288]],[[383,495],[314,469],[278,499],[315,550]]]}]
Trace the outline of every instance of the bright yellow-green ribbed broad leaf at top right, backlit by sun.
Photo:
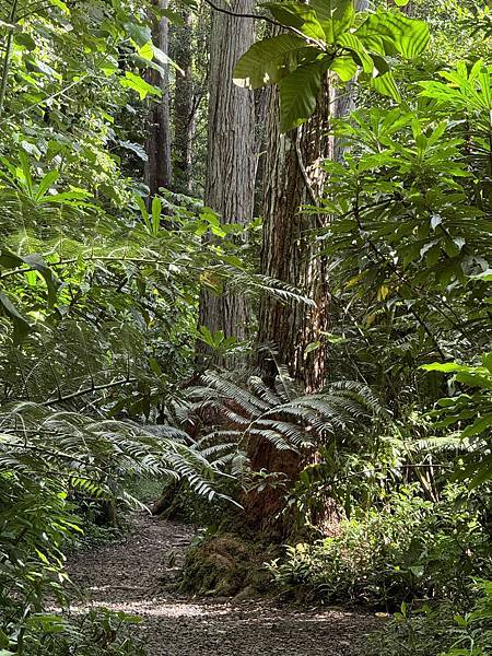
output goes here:
[{"label": "bright yellow-green ribbed broad leaf at top right, backlit by sun", "polygon": [[423,52],[430,39],[426,23],[389,11],[370,14],[354,34],[368,50],[375,49],[379,55],[399,52],[408,59]]}]

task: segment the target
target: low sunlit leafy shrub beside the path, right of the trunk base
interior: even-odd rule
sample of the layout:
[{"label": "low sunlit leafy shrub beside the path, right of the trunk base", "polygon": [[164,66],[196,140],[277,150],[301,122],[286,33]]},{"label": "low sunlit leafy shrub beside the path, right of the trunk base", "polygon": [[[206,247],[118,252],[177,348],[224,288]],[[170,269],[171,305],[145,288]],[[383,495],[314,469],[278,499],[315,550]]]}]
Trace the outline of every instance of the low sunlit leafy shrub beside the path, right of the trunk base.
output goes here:
[{"label": "low sunlit leafy shrub beside the path, right of the trunk base", "polygon": [[436,504],[417,492],[391,493],[383,507],[342,520],[335,537],[288,547],[284,561],[268,565],[274,582],[288,593],[387,607],[466,599],[470,576],[491,572],[481,516],[456,488]]}]

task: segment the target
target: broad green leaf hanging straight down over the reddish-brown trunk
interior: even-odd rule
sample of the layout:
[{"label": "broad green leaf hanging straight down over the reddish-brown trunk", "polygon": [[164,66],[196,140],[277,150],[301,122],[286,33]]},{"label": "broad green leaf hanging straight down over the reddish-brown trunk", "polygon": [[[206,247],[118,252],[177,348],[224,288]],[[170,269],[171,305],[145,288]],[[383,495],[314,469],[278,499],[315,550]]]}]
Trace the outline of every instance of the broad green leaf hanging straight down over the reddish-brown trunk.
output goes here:
[{"label": "broad green leaf hanging straight down over the reddish-brown trunk", "polygon": [[312,116],[320,87],[321,69],[318,63],[298,67],[279,82],[281,132],[301,126]]}]

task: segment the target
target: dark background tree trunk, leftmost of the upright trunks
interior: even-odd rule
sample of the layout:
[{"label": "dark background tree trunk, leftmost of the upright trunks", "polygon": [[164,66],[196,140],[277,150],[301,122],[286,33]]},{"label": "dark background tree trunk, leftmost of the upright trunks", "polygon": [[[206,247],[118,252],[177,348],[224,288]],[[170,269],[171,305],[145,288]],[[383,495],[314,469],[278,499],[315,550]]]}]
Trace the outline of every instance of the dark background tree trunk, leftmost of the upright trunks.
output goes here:
[{"label": "dark background tree trunk, leftmost of the upright trunks", "polygon": [[[154,0],[157,9],[166,9],[167,0]],[[168,24],[167,19],[154,19],[152,40],[164,55],[168,50]],[[150,197],[159,194],[161,187],[169,187],[172,184],[171,165],[171,130],[169,130],[169,74],[168,66],[164,61],[159,62],[164,72],[149,69],[147,79],[151,84],[159,86],[162,97],[155,102],[150,101],[147,116],[147,142],[144,179],[149,187]]]}]

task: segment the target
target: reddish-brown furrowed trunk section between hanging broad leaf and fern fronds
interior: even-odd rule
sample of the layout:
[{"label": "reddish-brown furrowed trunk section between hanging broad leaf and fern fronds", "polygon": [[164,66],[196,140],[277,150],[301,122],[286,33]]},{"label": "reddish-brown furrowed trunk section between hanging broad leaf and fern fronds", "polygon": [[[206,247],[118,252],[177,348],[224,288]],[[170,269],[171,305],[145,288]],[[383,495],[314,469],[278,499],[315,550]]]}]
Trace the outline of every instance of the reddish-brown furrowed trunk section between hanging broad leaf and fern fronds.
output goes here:
[{"label": "reddish-brown furrowed trunk section between hanging broad leaf and fern fronds", "polygon": [[[326,376],[326,350],[306,353],[313,342],[323,342],[328,329],[328,281],[326,263],[313,237],[327,223],[325,214],[303,212],[301,206],[317,204],[326,175],[323,160],[333,156],[333,140],[327,134],[330,85],[327,79],[316,114],[301,128],[279,132],[279,94],[269,90],[267,154],[263,178],[263,243],[261,272],[297,286],[314,305],[281,303],[265,295],[259,311],[259,342],[277,352],[292,377],[306,390],[318,389]],[[268,379],[277,373],[273,359],[260,359]]]}]

